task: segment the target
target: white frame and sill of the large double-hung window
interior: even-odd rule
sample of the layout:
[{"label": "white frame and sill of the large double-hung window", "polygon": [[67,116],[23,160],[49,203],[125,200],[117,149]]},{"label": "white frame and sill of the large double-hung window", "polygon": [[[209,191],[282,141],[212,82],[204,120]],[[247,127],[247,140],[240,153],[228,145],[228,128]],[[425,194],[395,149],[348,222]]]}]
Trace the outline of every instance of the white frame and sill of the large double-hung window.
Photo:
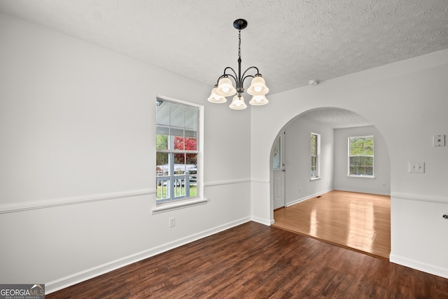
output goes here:
[{"label": "white frame and sill of the large double-hung window", "polygon": [[[171,196],[171,198],[169,200],[158,200],[158,181],[160,178],[160,176],[158,175],[158,169],[157,169],[157,162],[156,164],[156,169],[155,169],[155,207],[153,207],[153,214],[158,214],[164,211],[171,211],[173,209],[181,209],[184,207],[190,207],[193,205],[197,205],[197,204],[204,204],[207,202],[207,199],[204,198],[204,106],[202,105],[198,105],[198,104],[194,104],[194,103],[190,103],[190,102],[185,102],[185,101],[181,101],[179,99],[172,99],[169,97],[162,97],[162,96],[156,96],[156,103],[158,102],[170,102],[173,104],[180,104],[183,106],[188,106],[188,107],[194,107],[195,109],[197,109],[197,125],[196,125],[196,145],[197,145],[197,149],[195,151],[190,151],[190,150],[175,150],[174,148],[169,148],[167,150],[165,149],[158,149],[157,146],[157,142],[155,142],[155,153],[156,153],[156,157],[158,155],[158,153],[167,153],[169,156],[173,157],[176,153],[195,153],[197,155],[196,157],[196,172],[197,172],[197,195],[193,196],[193,197],[173,197]],[[157,136],[158,136],[158,132],[157,132],[157,127],[158,127],[158,118],[157,118],[157,113],[158,113],[158,109],[155,109],[155,139],[157,140]],[[185,124],[184,124],[185,125]],[[170,125],[171,127],[171,125]],[[185,127],[183,127],[183,129],[185,130]],[[174,136],[174,135],[173,135]],[[183,136],[186,137],[186,136]],[[169,141],[172,142],[172,141]],[[171,172],[169,172],[169,176],[170,178],[174,178],[175,174],[173,172],[174,170],[174,160],[169,160],[169,168],[171,169]],[[187,169],[185,169],[186,171]],[[185,176],[187,176],[188,174],[185,174]],[[166,176],[165,176],[166,177]],[[167,181],[167,184],[170,181]],[[174,183],[174,181],[172,181],[172,183]],[[171,183],[170,183],[171,184]],[[173,195],[173,193],[172,193]]]}]

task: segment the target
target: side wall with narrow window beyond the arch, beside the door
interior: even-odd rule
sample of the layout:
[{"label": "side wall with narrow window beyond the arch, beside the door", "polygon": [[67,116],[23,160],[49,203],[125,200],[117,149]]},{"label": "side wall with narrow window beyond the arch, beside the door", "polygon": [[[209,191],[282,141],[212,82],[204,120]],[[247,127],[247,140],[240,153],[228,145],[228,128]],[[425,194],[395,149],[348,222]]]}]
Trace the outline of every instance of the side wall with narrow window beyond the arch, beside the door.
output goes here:
[{"label": "side wall with narrow window beyond the arch, beside the door", "polygon": [[[286,205],[332,190],[333,129],[299,117],[285,129],[285,197]],[[311,180],[312,133],[321,135],[320,179]]]}]

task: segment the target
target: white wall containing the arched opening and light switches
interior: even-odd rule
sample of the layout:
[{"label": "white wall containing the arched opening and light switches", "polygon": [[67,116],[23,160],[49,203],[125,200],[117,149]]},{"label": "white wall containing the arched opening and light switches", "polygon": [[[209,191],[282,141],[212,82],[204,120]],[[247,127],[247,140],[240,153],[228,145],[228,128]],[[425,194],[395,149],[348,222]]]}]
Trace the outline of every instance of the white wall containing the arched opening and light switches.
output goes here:
[{"label": "white wall containing the arched opening and light switches", "polygon": [[[319,107],[356,112],[388,147],[391,261],[448,277],[448,146],[432,146],[434,134],[448,135],[447,95],[448,50],[271,95],[269,105],[251,111],[252,190],[269,190],[270,151],[286,123]],[[426,173],[410,174],[409,161],[426,162]],[[251,211],[273,221],[269,192],[251,193]]]}]

